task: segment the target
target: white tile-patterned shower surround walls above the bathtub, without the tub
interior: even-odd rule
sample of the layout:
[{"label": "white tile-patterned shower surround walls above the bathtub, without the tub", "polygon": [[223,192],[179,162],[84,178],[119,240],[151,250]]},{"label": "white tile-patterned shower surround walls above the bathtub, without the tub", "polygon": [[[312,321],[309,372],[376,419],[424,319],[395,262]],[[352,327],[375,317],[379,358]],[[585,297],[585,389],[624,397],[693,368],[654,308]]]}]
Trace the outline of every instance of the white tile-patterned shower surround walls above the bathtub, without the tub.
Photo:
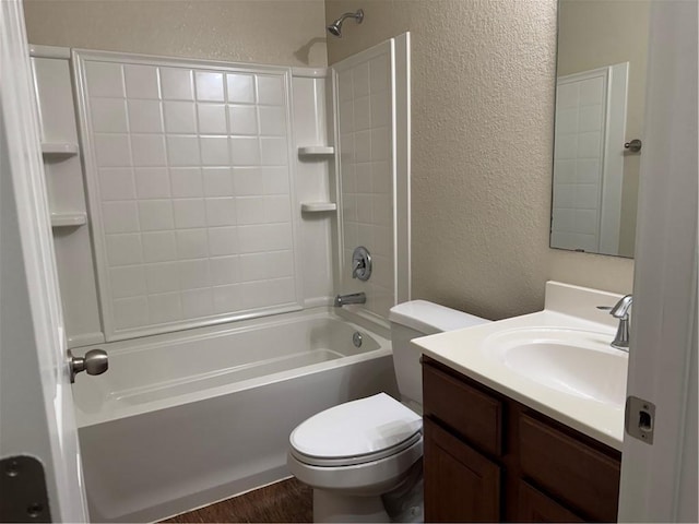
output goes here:
[{"label": "white tile-patterned shower surround walls above the bathtub, without the tub", "polygon": [[[80,158],[47,160],[50,211],[85,216],[87,205],[86,225],[54,228],[69,347],[323,306],[353,290],[368,290],[362,310],[384,317],[396,273],[387,45],[388,55],[363,53],[356,74],[343,75],[348,84],[335,111],[352,114],[337,160],[307,153],[340,145],[327,70],[73,53],[87,203]],[[54,118],[75,127],[70,50],[38,48],[45,140],[76,144],[74,132],[48,132]],[[58,80],[68,86],[60,99]],[[66,177],[62,168],[73,164],[75,176]],[[335,196],[345,201],[345,222],[334,211],[301,212]],[[402,213],[410,219],[410,210]],[[335,255],[354,243],[375,255],[374,276],[359,289],[348,261]],[[408,294],[399,288],[398,297]]]}]

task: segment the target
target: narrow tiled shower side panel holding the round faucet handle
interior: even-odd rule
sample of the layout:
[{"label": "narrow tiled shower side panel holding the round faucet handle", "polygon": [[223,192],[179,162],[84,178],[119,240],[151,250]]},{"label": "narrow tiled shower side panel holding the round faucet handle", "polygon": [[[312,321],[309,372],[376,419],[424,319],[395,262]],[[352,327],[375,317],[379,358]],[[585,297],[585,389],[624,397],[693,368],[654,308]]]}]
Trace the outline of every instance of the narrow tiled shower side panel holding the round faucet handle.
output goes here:
[{"label": "narrow tiled shower side panel holding the round faucet handle", "polygon": [[[392,41],[335,66],[342,189],[343,293],[364,291],[365,308],[382,318],[395,296],[395,165]],[[372,257],[367,282],[352,278],[352,252]]]}]

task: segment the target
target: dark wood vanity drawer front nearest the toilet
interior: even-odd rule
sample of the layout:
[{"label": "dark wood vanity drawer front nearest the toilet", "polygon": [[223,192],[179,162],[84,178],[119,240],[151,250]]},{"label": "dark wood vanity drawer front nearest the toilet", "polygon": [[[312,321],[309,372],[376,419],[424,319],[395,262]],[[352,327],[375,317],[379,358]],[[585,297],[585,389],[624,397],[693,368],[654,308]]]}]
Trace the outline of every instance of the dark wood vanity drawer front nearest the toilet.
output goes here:
[{"label": "dark wood vanity drawer front nearest the toilet", "polygon": [[502,403],[462,380],[423,365],[423,408],[485,452],[502,454]]}]

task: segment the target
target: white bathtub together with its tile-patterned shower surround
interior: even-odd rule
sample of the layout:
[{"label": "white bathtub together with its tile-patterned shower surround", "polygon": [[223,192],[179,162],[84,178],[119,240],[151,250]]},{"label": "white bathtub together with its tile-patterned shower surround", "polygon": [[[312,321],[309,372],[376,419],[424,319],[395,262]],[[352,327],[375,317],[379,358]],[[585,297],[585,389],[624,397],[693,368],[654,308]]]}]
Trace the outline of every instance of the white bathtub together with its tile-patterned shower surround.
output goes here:
[{"label": "white bathtub together with its tile-patterned shower surround", "polygon": [[407,48],[325,70],[33,47],[69,347],[109,357],[73,385],[92,520],[284,478],[303,420],[396,394]]}]

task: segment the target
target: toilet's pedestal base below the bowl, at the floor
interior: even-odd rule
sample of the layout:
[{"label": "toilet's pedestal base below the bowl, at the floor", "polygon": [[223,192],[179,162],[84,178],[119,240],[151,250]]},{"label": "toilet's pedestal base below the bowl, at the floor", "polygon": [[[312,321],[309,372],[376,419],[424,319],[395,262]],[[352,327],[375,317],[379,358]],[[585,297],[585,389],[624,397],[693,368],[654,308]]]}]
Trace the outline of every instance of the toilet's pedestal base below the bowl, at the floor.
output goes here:
[{"label": "toilet's pedestal base below the bowl, at the floor", "polygon": [[313,522],[391,522],[380,496],[354,497],[313,489]]}]

